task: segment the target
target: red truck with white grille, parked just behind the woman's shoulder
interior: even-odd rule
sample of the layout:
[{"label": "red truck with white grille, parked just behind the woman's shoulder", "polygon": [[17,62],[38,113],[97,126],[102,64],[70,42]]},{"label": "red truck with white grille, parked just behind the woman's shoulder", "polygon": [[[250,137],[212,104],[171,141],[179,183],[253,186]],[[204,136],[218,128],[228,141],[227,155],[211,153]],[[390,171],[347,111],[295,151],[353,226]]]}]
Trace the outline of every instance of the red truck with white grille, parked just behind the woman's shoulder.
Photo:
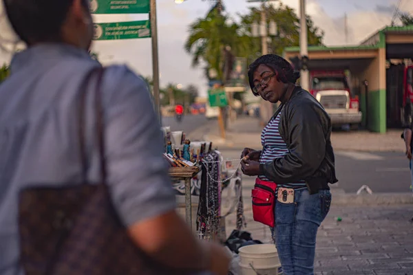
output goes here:
[{"label": "red truck with white grille, parked just behind the woman's shoulder", "polygon": [[326,109],[333,126],[350,124],[357,129],[362,117],[359,97],[352,95],[344,71],[310,72],[310,93]]}]

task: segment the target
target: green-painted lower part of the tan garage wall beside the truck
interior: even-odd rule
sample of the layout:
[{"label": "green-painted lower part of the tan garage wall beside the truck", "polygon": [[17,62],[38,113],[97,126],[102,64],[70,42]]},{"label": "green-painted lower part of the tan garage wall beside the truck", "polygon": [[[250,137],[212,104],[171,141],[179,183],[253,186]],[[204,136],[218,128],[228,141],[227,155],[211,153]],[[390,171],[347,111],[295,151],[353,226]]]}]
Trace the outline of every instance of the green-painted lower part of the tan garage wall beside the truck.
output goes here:
[{"label": "green-painted lower part of the tan garage wall beside the truck", "polygon": [[[365,104],[364,104],[365,105]],[[363,106],[363,104],[361,104]],[[368,92],[368,129],[377,133],[386,131],[385,89]]]}]

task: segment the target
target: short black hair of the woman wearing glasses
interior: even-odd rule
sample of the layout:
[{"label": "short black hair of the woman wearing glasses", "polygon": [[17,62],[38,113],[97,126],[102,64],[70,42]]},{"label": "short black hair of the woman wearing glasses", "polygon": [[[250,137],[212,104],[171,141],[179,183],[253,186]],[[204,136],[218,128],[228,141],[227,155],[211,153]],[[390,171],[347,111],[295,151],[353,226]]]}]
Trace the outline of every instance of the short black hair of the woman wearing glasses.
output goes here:
[{"label": "short black hair of the woman wearing glasses", "polygon": [[[277,80],[282,83],[296,83],[300,76],[299,72],[295,71],[293,66],[281,56],[266,54],[257,58],[257,60],[248,67],[248,82],[251,90],[254,87],[254,72],[260,65],[266,65],[273,69],[274,72],[277,72]],[[258,96],[254,91],[253,94]]]}]

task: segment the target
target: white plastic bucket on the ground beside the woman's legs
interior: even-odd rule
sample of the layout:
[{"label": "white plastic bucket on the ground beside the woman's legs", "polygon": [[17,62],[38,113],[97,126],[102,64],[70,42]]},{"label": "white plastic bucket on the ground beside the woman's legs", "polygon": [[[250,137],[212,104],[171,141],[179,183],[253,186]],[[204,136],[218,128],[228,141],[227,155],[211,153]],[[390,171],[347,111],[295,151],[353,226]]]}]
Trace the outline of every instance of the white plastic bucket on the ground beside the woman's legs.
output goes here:
[{"label": "white plastic bucket on the ground beside the woman's legs", "polygon": [[239,250],[242,275],[279,275],[277,248],[273,244],[247,245]]}]

